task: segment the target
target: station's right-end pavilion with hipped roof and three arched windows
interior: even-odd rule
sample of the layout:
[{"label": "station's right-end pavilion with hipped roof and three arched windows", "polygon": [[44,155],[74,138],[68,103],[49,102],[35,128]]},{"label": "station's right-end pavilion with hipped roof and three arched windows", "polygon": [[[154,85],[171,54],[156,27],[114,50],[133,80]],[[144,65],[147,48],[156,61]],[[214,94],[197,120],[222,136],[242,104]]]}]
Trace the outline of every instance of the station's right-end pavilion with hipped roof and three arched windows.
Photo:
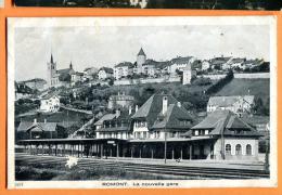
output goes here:
[{"label": "station's right-end pavilion with hipped roof and three arched windows", "polygon": [[257,160],[260,134],[231,110],[216,110],[185,134],[194,159]]}]

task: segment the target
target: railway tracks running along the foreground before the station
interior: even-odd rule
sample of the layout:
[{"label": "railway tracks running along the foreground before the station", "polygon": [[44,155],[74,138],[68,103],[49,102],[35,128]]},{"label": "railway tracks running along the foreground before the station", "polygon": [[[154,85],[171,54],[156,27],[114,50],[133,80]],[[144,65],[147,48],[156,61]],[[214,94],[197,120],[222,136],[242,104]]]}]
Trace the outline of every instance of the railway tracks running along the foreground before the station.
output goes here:
[{"label": "railway tracks running along the foreground before the station", "polygon": [[[16,164],[22,165],[60,165],[65,166],[66,157],[54,156],[15,156]],[[231,168],[206,168],[206,167],[188,167],[172,165],[149,165],[127,161],[104,160],[95,158],[79,158],[78,167],[94,168],[102,166],[105,169],[121,168],[128,172],[152,173],[162,176],[174,176],[178,178],[198,178],[198,179],[260,179],[269,178],[269,172],[264,170],[231,169]]]}]

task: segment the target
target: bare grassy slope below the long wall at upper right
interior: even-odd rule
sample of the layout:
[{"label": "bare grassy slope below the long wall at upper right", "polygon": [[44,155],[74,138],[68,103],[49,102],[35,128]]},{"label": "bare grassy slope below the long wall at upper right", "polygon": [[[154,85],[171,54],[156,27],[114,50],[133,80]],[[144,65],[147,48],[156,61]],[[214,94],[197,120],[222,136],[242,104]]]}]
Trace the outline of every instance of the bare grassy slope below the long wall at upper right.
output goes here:
[{"label": "bare grassy slope below the long wall at upper right", "polygon": [[[249,90],[249,93],[248,93]],[[269,79],[233,79],[225,86],[216,95],[255,95],[261,98],[264,103],[270,94]]]}]

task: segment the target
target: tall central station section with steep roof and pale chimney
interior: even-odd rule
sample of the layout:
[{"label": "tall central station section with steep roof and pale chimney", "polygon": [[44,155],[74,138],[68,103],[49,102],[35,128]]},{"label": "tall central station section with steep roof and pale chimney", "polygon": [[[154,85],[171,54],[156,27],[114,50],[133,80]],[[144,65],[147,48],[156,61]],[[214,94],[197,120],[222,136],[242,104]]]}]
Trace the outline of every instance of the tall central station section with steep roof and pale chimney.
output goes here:
[{"label": "tall central station section with steep roof and pale chimney", "polygon": [[153,94],[131,119],[137,140],[179,138],[193,122],[192,116],[170,94]]}]

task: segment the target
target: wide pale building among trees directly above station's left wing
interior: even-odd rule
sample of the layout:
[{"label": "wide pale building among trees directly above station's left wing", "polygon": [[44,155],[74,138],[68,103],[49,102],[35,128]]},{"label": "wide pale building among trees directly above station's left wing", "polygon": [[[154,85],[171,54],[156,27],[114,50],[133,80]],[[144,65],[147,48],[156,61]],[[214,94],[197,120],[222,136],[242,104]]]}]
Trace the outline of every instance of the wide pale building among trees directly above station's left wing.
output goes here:
[{"label": "wide pale building among trees directly above station's left wing", "polygon": [[114,108],[129,108],[130,106],[133,106],[134,98],[131,95],[126,95],[125,93],[119,93],[117,95],[111,95],[108,99],[107,108],[114,109]]}]

